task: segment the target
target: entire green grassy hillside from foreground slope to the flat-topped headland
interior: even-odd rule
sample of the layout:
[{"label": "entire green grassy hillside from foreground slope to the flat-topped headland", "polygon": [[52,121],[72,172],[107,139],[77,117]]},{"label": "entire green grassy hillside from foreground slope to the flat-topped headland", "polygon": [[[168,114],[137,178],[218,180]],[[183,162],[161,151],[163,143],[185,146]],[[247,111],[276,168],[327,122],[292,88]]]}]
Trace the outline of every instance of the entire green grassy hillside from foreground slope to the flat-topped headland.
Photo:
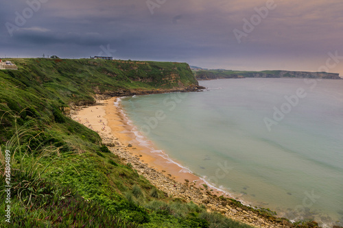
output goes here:
[{"label": "entire green grassy hillside from foreground slope to the flat-topped headland", "polygon": [[249,227],[167,197],[62,113],[95,93],[196,86],[187,64],[11,61],[18,71],[0,71],[0,216],[10,205],[11,223],[0,227]]}]

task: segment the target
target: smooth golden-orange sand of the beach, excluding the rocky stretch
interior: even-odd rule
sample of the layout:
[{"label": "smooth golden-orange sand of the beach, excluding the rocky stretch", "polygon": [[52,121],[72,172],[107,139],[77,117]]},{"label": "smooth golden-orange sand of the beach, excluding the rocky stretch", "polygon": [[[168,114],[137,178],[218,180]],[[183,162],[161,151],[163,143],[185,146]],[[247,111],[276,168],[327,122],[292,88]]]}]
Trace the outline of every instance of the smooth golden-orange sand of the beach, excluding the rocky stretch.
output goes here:
[{"label": "smooth golden-orange sand of the beach, excluding the rocky stretch", "polygon": [[[206,184],[209,186],[207,190],[211,190],[217,196],[231,197],[224,190],[211,187],[210,183],[193,174],[189,168],[182,166],[163,151],[156,149],[150,140],[144,139],[144,142],[139,142],[137,138],[143,138],[143,136],[137,136],[134,133],[134,131],[137,132],[137,129],[128,123],[128,117],[119,106],[119,99],[119,97],[114,97],[97,101],[93,106],[84,107],[72,118],[96,131],[107,147],[115,147],[116,151],[126,149],[130,155],[138,157],[144,165],[154,168],[165,177],[180,183],[193,183],[197,188],[204,188],[202,184]],[[115,142],[113,143],[113,141]]]}]

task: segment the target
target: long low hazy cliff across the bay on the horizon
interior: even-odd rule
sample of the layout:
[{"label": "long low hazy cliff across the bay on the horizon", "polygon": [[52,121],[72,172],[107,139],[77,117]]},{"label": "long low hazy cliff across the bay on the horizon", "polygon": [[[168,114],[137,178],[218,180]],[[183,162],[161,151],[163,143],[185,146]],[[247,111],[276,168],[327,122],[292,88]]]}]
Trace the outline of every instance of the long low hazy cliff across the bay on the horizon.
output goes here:
[{"label": "long low hazy cliff across the bay on the horizon", "polygon": [[225,78],[244,78],[244,77],[263,77],[263,78],[322,78],[322,79],[342,79],[338,73],[324,72],[303,72],[303,71],[227,71],[209,70],[195,71],[194,75],[199,80],[225,79]]}]

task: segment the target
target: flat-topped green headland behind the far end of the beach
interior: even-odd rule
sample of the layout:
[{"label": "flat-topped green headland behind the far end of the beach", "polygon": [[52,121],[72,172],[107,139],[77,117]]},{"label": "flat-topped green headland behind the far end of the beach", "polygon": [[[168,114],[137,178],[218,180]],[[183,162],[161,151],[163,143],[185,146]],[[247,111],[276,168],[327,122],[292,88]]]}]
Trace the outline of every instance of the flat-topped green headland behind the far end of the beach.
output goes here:
[{"label": "flat-topped green headland behind the far end of the beach", "polygon": [[[13,86],[38,97],[54,91],[65,103],[93,103],[94,94],[124,96],[200,88],[187,63],[128,60],[11,59],[18,71],[0,71]],[[3,97],[0,97],[0,101]]]}]

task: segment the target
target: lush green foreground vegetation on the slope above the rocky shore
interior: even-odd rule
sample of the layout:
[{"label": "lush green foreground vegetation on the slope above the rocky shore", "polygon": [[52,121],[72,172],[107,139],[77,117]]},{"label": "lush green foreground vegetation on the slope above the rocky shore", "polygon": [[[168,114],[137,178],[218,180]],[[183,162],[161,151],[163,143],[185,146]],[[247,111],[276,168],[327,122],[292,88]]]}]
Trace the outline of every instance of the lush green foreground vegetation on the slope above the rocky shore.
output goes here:
[{"label": "lush green foreground vegetation on the slope above the rocky shore", "polygon": [[[32,153],[30,144],[23,147],[25,134],[16,133],[13,138],[19,140],[4,148],[15,151],[12,227],[249,227],[220,215],[213,220],[204,207],[165,197],[112,153],[56,153],[57,148],[50,147]],[[1,174],[3,164],[1,159]],[[5,179],[0,177],[4,186]],[[3,190],[0,199],[4,208]],[[1,220],[0,225],[8,224]]]}]

